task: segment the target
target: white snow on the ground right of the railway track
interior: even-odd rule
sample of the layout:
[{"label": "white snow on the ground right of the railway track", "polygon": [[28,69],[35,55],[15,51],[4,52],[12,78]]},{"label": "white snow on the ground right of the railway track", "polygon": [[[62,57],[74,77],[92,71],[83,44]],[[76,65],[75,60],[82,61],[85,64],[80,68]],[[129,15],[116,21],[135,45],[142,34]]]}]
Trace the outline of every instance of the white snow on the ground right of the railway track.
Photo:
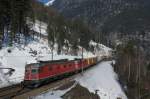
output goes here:
[{"label": "white snow on the ground right of the railway track", "polygon": [[[100,96],[100,99],[127,99],[117,79],[117,74],[111,66],[111,61],[102,62],[85,71],[83,75],[78,75],[75,78],[76,82],[88,88],[90,92],[95,93],[98,90],[97,94]],[[62,99],[61,96],[71,88],[61,91],[50,90],[49,92],[34,97],[34,99]]]}]

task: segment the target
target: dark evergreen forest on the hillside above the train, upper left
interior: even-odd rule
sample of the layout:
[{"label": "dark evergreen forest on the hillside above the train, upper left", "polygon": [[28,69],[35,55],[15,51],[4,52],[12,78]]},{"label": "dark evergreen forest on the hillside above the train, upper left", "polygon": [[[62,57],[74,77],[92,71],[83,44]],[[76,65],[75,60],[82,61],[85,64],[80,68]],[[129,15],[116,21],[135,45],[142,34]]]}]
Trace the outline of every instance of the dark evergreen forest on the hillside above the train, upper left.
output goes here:
[{"label": "dark evergreen forest on the hillside above the train, upper left", "polygon": [[[48,24],[49,45],[52,47],[57,43],[58,53],[62,46],[68,46],[68,43],[74,50],[78,45],[88,48],[89,41],[94,39],[91,28],[81,19],[66,19],[55,9],[36,0],[1,0],[0,7],[1,48],[6,41],[9,46],[14,43],[19,44],[22,36],[26,44],[27,38],[32,35],[30,28],[36,20]],[[32,21],[33,24],[27,24],[27,20]]]}]

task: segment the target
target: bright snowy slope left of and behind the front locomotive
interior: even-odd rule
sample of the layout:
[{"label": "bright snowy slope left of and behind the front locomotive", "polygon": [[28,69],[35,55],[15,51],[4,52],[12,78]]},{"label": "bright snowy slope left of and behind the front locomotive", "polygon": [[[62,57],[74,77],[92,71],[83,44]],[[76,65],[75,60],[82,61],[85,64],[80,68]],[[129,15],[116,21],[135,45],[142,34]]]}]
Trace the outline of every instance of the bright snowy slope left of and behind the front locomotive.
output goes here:
[{"label": "bright snowy slope left of and behind the front locomotive", "polygon": [[[33,51],[37,54],[43,52],[43,54],[48,54],[48,46],[44,42],[31,42],[27,46],[22,47],[6,47],[0,51],[0,63],[2,68],[13,68],[15,72],[11,76],[5,76],[5,79],[1,80],[0,87],[7,86],[14,83],[19,83],[24,77],[25,65],[29,62],[36,62],[38,55],[34,55]],[[11,52],[8,52],[11,50]],[[3,72],[6,72],[3,70]],[[1,73],[1,75],[3,75]],[[9,80],[9,82],[8,82]]]}]

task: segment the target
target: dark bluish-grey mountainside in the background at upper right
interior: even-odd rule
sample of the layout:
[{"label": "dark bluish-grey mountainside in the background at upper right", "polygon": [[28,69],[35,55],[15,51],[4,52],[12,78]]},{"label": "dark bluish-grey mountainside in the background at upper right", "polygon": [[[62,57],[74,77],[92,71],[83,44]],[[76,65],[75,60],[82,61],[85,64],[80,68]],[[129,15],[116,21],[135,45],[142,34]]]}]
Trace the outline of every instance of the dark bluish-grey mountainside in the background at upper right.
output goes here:
[{"label": "dark bluish-grey mountainside in the background at upper right", "polygon": [[53,7],[65,17],[83,19],[104,43],[137,38],[143,48],[150,44],[148,0],[56,0]]}]

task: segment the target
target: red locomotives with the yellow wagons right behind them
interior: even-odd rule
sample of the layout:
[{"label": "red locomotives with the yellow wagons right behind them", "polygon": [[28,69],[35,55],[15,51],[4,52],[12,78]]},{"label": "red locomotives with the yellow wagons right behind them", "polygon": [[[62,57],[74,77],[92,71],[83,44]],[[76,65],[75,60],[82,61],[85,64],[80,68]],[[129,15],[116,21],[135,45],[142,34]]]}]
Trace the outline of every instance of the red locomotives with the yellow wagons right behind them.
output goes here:
[{"label": "red locomotives with the yellow wagons right behind them", "polygon": [[24,85],[38,87],[43,83],[76,73],[97,63],[97,57],[75,60],[40,61],[25,67]]}]

